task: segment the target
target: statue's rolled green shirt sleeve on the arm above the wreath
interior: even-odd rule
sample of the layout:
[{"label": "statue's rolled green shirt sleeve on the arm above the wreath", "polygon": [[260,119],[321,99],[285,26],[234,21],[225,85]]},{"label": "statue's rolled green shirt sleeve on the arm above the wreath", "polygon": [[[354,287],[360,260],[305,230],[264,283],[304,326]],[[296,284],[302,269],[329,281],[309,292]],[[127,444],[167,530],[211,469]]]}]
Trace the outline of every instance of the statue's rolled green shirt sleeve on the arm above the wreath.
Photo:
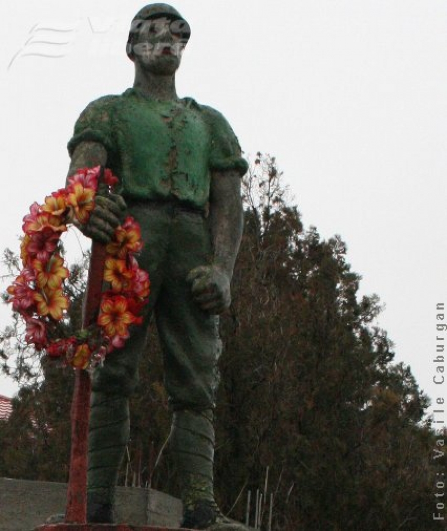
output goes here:
[{"label": "statue's rolled green shirt sleeve on the arm above the wreath", "polygon": [[74,125],[73,136],[67,148],[70,157],[81,142],[99,142],[109,154],[115,150],[113,135],[114,96],[104,96],[92,101]]}]

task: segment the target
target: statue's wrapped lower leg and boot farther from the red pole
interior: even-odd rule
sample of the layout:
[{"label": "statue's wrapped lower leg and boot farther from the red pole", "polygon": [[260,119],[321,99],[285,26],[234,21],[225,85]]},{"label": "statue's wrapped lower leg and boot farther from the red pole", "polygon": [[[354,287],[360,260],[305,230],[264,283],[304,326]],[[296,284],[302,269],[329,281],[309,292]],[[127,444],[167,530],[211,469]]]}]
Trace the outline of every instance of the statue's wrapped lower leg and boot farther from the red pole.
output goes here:
[{"label": "statue's wrapped lower leg and boot farther from the red pole", "polygon": [[211,409],[174,413],[170,449],[177,466],[183,502],[181,527],[248,531],[222,515],[214,500],[214,426]]}]

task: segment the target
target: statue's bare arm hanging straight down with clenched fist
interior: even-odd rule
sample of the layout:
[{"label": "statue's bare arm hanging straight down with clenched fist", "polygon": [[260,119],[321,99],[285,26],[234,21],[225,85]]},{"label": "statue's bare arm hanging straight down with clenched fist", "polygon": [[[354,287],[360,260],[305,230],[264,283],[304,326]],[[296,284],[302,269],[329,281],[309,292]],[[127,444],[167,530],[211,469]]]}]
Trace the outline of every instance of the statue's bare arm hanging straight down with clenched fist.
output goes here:
[{"label": "statue's bare arm hanging straight down with clenched fist", "polygon": [[230,282],[243,230],[240,174],[235,170],[212,173],[210,221],[213,261],[187,276],[194,299],[202,310],[219,314],[231,303]]}]

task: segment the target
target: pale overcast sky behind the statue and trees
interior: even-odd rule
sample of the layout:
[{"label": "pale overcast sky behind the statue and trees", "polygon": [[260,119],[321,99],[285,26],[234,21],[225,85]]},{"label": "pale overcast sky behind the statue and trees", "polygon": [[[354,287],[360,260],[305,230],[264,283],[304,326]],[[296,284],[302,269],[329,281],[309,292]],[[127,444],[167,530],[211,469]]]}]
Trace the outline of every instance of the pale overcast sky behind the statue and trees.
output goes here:
[{"label": "pale overcast sky behind the statue and trees", "polygon": [[[29,205],[63,185],[82,109],[132,85],[125,42],[143,5],[2,3],[2,249],[18,249]],[[220,110],[247,156],[276,156],[305,226],[340,234],[361,294],[386,305],[396,361],[445,396],[432,360],[436,303],[447,304],[447,2],[173,5],[192,29],[179,95]],[[2,309],[1,328],[8,319]],[[14,390],[0,379],[0,393]]]}]

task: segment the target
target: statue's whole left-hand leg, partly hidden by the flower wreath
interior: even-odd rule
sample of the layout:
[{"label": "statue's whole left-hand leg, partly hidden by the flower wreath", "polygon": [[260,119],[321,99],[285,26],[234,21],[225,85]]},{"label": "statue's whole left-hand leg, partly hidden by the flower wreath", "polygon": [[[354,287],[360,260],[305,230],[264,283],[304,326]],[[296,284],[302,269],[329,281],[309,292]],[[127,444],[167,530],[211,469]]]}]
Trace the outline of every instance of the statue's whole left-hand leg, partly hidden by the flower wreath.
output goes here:
[{"label": "statue's whole left-hand leg, partly hidden by the flower wreath", "polygon": [[[130,212],[134,214],[132,211]],[[152,212],[140,215],[146,224],[144,241],[147,245],[139,257],[140,267],[149,271],[151,295],[145,307],[144,320],[132,327],[124,348],[108,354],[103,367],[93,375],[91,415],[89,427],[88,520],[113,521],[116,483],[130,423],[128,401],[138,381],[138,362],[144,349],[151,311],[161,286],[160,263],[164,257],[167,233],[165,218]],[[150,230],[149,230],[150,228]]]}]

